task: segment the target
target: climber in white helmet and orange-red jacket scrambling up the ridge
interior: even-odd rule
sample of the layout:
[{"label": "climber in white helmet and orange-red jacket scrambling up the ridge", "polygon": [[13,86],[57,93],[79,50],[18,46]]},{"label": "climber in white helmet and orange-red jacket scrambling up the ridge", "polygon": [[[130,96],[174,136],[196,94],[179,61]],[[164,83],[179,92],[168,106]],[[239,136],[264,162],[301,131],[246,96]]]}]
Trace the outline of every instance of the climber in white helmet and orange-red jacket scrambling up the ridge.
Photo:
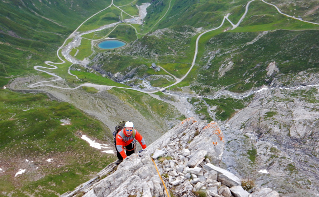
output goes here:
[{"label": "climber in white helmet and orange-red jacket scrambling up the ridge", "polygon": [[[144,138],[134,129],[134,124],[130,121],[125,122],[122,128],[115,136],[115,149],[118,160],[115,162],[118,165],[126,156],[135,152],[135,139],[139,142],[143,149],[146,148]],[[124,152],[126,149],[126,154]]]}]

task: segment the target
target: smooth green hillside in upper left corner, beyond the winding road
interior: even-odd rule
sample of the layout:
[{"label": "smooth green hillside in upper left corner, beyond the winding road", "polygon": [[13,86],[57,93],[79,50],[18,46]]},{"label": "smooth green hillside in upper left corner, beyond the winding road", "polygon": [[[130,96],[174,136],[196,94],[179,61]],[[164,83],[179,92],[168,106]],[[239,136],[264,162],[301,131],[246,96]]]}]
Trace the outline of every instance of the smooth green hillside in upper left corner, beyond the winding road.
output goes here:
[{"label": "smooth green hillside in upper left corner, beyond the winding road", "polygon": [[[0,85],[5,77],[33,72],[34,65],[58,61],[55,52],[86,18],[110,1],[1,1]],[[66,20],[67,19],[67,20]]]}]

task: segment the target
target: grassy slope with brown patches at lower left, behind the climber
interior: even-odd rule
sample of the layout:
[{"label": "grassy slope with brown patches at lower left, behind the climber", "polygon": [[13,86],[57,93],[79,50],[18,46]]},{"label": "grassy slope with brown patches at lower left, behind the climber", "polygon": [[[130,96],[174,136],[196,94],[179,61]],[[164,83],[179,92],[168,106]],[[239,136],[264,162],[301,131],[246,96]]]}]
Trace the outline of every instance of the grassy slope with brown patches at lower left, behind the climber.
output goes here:
[{"label": "grassy slope with brown patches at lower left, behind the climber", "polygon": [[[81,133],[102,140],[110,131],[70,104],[9,90],[0,90],[0,100],[0,193],[62,194],[114,160],[80,139]],[[60,125],[65,118],[72,124]],[[25,173],[14,177],[19,168]]]}]

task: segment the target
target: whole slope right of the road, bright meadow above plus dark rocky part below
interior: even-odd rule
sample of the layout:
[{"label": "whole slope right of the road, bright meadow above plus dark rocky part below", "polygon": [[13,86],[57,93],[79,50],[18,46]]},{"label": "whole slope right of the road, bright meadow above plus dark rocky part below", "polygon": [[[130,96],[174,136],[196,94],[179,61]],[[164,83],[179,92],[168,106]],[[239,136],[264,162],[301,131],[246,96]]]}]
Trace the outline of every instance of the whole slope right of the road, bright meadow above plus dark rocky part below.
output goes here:
[{"label": "whole slope right of the road, bright meadow above plus dark rocky part below", "polygon": [[[246,91],[251,87],[266,85],[276,77],[266,76],[266,67],[270,62],[277,63],[281,74],[296,74],[317,67],[319,52],[316,46],[308,43],[310,39],[317,42],[317,30],[277,30],[253,44],[245,43],[256,38],[260,34],[258,31],[319,29],[318,26],[277,15],[272,7],[260,2],[252,3],[249,11],[249,20],[243,21],[240,27],[216,35],[205,43],[205,52],[199,63],[203,67],[199,74],[203,77],[198,82],[211,87],[230,86],[231,91]],[[216,57],[209,60],[208,52],[212,51],[216,52]],[[220,66],[230,61],[234,66],[219,78]]]}]

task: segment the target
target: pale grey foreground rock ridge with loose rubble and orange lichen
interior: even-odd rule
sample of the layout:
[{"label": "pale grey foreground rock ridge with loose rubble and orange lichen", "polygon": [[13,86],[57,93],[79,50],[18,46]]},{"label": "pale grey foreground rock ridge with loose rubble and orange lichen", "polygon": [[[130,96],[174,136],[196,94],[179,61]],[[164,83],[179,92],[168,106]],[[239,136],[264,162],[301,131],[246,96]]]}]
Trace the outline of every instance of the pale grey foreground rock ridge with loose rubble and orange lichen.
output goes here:
[{"label": "pale grey foreground rock ridge with loose rubble and orange lichen", "polygon": [[[169,192],[196,196],[199,191],[207,196],[250,196],[238,177],[218,167],[223,148],[223,134],[215,122],[188,118],[141,153],[128,156],[118,166],[109,164],[95,178],[61,196],[158,197],[170,196]],[[270,188],[259,192],[276,193]]]}]

